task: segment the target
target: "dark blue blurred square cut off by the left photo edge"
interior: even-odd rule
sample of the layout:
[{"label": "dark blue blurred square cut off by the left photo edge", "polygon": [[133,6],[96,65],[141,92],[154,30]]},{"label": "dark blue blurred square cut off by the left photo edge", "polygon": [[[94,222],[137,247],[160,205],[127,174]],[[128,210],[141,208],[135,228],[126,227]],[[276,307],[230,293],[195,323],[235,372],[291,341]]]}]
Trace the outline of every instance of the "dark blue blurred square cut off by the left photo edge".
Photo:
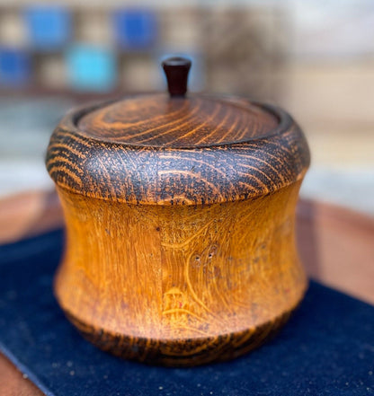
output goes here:
[{"label": "dark blue blurred square cut off by the left photo edge", "polygon": [[31,78],[31,58],[17,48],[0,48],[0,84],[22,85]]}]

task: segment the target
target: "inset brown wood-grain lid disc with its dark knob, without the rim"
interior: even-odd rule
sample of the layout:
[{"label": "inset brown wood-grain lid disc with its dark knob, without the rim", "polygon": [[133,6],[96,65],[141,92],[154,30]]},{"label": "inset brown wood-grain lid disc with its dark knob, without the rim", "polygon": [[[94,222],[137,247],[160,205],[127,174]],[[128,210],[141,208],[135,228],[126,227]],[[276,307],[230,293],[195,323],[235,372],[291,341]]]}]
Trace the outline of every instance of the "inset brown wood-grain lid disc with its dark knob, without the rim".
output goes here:
[{"label": "inset brown wood-grain lid disc with its dark knob, without the rim", "polygon": [[277,117],[250,101],[185,95],[191,61],[163,62],[169,95],[116,101],[78,119],[80,133],[125,145],[196,147],[226,145],[272,134]]}]

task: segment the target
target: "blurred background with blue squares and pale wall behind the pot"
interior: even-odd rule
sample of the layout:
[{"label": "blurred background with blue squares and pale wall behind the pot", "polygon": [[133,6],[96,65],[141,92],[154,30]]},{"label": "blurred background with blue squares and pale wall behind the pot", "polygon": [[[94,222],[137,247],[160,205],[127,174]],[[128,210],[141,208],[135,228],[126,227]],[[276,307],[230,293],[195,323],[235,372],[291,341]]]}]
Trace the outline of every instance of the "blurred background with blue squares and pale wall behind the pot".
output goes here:
[{"label": "blurred background with blue squares and pale wall behind the pot", "polygon": [[191,57],[191,91],[289,110],[312,151],[303,197],[374,216],[372,0],[2,0],[0,198],[52,189],[44,154],[62,115],[165,90],[172,54]]}]

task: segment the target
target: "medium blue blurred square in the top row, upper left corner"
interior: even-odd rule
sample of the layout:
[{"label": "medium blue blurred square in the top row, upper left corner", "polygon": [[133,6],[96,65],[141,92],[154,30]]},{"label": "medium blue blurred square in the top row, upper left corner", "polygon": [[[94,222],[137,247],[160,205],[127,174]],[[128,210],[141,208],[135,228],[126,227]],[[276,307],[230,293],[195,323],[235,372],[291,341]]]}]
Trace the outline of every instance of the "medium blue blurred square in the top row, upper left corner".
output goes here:
[{"label": "medium blue blurred square in the top row, upper left corner", "polygon": [[72,35],[72,18],[62,6],[32,6],[24,13],[32,47],[54,50],[64,46]]}]

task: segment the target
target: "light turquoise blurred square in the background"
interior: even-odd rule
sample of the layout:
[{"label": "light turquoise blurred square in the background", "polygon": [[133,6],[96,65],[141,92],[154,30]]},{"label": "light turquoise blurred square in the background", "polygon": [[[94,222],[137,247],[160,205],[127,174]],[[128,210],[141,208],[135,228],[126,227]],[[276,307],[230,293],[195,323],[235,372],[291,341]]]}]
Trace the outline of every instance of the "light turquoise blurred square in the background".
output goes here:
[{"label": "light turquoise blurred square in the background", "polygon": [[111,50],[75,45],[67,50],[67,75],[78,91],[110,91],[117,80],[116,57]]}]

